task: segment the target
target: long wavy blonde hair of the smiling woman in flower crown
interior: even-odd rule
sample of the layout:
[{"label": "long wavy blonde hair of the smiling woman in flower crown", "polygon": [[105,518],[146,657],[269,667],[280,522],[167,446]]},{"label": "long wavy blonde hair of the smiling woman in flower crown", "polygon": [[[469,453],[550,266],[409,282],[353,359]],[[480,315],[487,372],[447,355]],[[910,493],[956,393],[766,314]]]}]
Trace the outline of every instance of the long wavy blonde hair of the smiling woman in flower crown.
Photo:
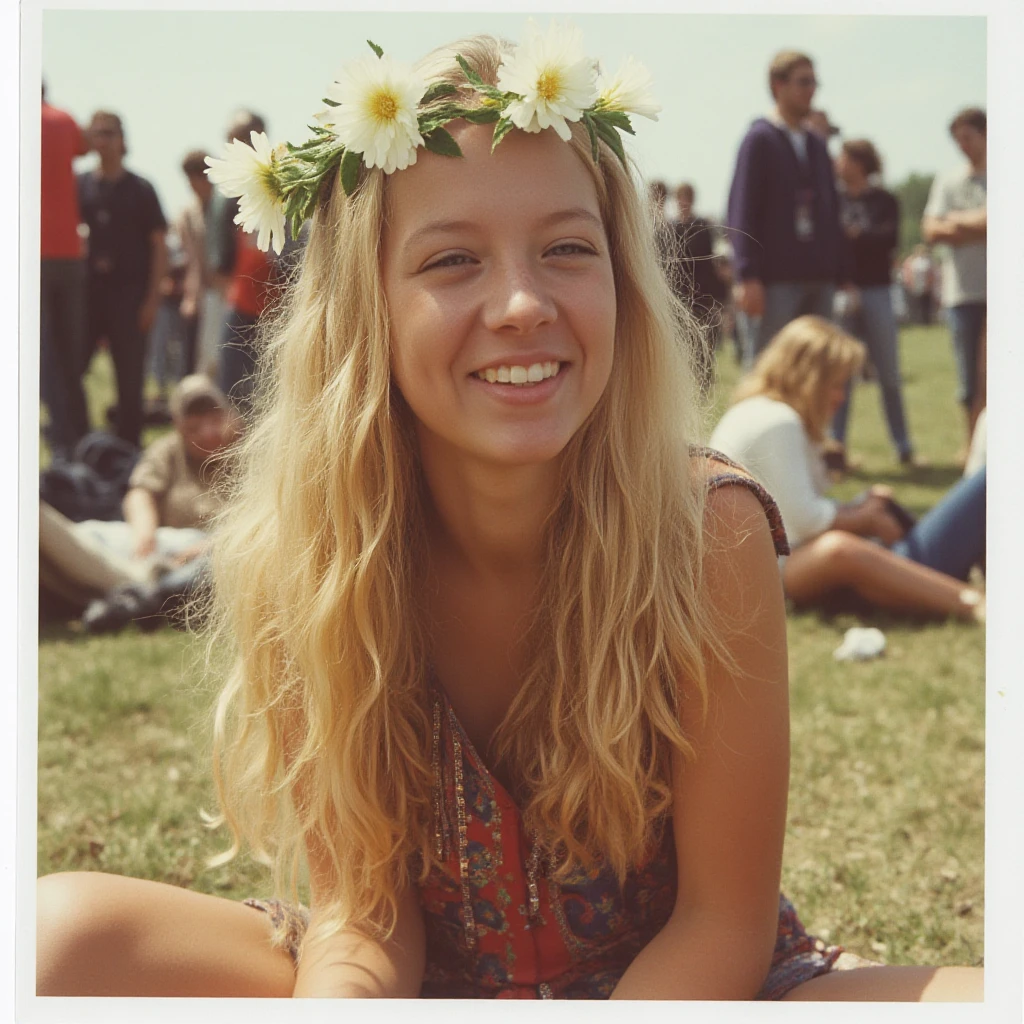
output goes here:
[{"label": "long wavy blonde hair of the smiling woman in flower crown", "polygon": [[[493,83],[506,47],[474,37],[421,68],[462,87],[458,52]],[[602,857],[624,878],[669,809],[673,751],[692,755],[680,686],[706,706],[706,658],[726,655],[700,595],[696,329],[657,262],[635,173],[603,143],[594,165],[580,125],[568,144],[612,254],[614,364],[561,457],[529,668],[495,745],[557,869]],[[374,170],[351,198],[322,198],[265,332],[256,424],[214,546],[209,645],[231,666],[214,723],[233,836],[221,860],[248,843],[294,892],[312,843],[332,868],[333,927],[385,935],[397,893],[433,860],[422,481],[389,370],[386,194]]]}]

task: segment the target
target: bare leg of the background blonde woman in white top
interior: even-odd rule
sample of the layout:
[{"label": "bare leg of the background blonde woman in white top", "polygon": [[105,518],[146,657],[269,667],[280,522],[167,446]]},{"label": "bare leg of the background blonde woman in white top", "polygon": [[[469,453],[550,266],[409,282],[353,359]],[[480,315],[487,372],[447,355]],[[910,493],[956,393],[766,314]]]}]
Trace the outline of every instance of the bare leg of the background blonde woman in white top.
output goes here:
[{"label": "bare leg of the background blonde woman in white top", "polygon": [[839,529],[826,530],[797,548],[785,560],[782,581],[798,604],[852,587],[891,611],[977,618],[982,607],[982,596],[973,587]]}]

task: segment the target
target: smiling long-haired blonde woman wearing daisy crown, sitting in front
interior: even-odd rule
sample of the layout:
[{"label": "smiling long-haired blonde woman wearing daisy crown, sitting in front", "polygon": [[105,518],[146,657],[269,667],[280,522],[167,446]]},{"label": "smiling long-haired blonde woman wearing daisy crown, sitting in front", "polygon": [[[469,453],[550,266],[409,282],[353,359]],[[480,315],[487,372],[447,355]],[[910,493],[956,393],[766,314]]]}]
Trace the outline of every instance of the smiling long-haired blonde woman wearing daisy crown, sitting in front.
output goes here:
[{"label": "smiling long-haired blonde woman wearing daisy crown, sitting in front", "polygon": [[[304,862],[311,905],[50,876],[40,993],[980,998],[969,968],[837,970],[780,897],[785,539],[688,445],[624,74],[557,25],[375,55],[321,142],[238,155],[254,227],[315,190],[214,542],[215,778],[231,852],[279,895]],[[352,131],[366,95],[390,134]]]}]

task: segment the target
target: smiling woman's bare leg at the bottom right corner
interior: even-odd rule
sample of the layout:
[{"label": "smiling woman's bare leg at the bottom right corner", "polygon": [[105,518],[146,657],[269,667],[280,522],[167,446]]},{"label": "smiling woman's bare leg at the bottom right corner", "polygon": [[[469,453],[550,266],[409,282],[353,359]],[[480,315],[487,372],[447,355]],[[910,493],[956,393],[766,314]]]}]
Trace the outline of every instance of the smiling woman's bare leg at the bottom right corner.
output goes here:
[{"label": "smiling woman's bare leg at the bottom right corner", "polygon": [[880,1002],[981,1002],[985,973],[977,967],[864,967],[833,971],[782,996]]}]

